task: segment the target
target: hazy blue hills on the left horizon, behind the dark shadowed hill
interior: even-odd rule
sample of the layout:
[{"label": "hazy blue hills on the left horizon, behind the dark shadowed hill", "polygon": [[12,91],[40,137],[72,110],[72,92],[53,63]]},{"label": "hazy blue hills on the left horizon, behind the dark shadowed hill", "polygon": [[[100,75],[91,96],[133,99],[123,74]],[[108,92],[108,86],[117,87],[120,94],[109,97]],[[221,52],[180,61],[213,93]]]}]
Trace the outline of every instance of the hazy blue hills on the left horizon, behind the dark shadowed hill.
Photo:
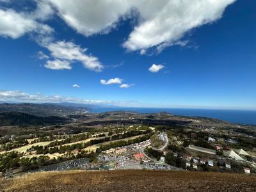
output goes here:
[{"label": "hazy blue hills on the left horizon, behind the dark shadowed hill", "polygon": [[72,104],[72,103],[1,103],[0,113],[3,112],[19,112],[28,113],[36,116],[64,116],[74,113],[84,113],[90,111],[93,105],[88,104]]}]

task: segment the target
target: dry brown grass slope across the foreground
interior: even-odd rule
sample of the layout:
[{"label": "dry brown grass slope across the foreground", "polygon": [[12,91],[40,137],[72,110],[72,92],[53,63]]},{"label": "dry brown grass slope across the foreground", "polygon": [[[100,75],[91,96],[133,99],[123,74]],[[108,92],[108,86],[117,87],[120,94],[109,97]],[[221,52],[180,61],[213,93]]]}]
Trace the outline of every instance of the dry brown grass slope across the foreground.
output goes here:
[{"label": "dry brown grass slope across the foreground", "polygon": [[147,170],[31,173],[0,179],[1,191],[256,191],[255,175]]}]

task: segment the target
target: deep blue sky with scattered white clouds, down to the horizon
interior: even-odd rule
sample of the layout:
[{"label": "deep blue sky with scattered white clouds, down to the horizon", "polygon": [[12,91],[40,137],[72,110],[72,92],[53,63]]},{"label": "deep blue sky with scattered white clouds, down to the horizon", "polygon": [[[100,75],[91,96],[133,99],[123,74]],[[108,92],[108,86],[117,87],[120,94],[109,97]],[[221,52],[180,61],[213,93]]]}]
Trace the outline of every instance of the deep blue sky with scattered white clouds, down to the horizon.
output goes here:
[{"label": "deep blue sky with scattered white clouds, down to the horizon", "polygon": [[143,1],[0,0],[0,100],[256,109],[255,1]]}]

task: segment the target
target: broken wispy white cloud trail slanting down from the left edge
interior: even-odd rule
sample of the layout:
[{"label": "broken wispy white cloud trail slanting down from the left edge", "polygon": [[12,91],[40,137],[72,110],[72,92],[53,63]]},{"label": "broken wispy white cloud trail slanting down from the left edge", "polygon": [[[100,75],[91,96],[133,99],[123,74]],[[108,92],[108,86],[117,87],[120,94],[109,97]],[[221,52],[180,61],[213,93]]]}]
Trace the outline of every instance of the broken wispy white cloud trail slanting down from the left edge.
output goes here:
[{"label": "broken wispy white cloud trail slanting down from the left edge", "polygon": [[[44,65],[51,69],[71,69],[71,63],[79,61],[83,66],[94,71],[101,71],[103,65],[98,58],[85,54],[87,49],[82,49],[72,42],[54,42],[51,27],[37,22],[36,19],[43,19],[52,14],[51,6],[44,1],[38,1],[38,7],[32,13],[17,13],[14,10],[0,9],[0,36],[19,38],[26,33],[43,47],[51,51],[54,60],[49,60]],[[41,18],[42,17],[42,18]],[[38,58],[49,59],[42,51],[38,52]]]}]

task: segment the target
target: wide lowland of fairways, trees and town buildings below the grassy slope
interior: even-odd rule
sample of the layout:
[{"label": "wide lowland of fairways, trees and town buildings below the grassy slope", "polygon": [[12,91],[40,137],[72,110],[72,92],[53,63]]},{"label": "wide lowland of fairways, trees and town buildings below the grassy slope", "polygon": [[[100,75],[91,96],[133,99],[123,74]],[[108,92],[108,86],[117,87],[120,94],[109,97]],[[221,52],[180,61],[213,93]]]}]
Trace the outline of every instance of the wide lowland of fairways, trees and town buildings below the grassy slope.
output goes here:
[{"label": "wide lowland of fairways, trees and town buildings below the grassy slope", "polygon": [[19,115],[15,123],[0,127],[4,177],[63,170],[256,173],[253,125],[125,111],[72,112],[61,117],[63,122],[35,125],[24,123],[25,113]]}]

